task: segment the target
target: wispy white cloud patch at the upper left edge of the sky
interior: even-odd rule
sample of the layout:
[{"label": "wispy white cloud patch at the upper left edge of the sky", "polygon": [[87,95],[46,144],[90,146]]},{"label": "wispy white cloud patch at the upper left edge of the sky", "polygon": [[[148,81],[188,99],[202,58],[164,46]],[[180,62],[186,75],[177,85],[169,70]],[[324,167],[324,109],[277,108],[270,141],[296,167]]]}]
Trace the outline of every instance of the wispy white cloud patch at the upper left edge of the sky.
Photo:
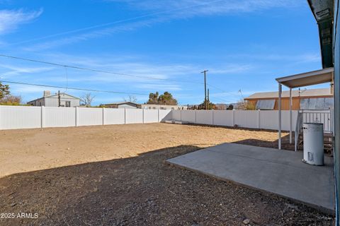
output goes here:
[{"label": "wispy white cloud patch at the upper left edge of the sky", "polygon": [[0,35],[16,30],[19,25],[38,18],[41,13],[42,9],[39,11],[0,10]]}]

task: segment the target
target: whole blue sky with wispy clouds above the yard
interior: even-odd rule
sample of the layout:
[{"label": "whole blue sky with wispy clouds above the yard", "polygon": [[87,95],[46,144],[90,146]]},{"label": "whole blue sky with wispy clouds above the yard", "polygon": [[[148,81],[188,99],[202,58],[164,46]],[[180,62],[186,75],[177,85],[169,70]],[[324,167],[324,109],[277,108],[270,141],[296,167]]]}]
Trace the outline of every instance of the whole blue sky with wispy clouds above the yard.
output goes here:
[{"label": "whole blue sky with wispy clouds above the yard", "polygon": [[[183,105],[203,101],[204,69],[210,100],[225,103],[237,102],[239,90],[244,96],[277,90],[277,77],[321,69],[317,24],[305,0],[0,0],[0,49],[16,57],[163,79],[0,57],[4,81],[169,91]],[[46,89],[11,85],[25,101]],[[96,105],[128,97],[93,94]],[[135,97],[145,102],[148,95]]]}]

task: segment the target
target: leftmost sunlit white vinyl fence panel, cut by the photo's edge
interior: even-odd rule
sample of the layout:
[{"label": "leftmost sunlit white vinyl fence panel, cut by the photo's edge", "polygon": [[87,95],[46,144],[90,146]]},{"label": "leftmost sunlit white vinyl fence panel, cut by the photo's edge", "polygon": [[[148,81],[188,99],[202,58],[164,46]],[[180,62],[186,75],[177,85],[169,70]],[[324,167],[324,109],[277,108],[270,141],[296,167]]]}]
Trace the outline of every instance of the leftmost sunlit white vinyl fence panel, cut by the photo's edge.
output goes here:
[{"label": "leftmost sunlit white vinyl fence panel, cut by the photo's edge", "polygon": [[0,129],[41,127],[41,107],[0,106]]}]

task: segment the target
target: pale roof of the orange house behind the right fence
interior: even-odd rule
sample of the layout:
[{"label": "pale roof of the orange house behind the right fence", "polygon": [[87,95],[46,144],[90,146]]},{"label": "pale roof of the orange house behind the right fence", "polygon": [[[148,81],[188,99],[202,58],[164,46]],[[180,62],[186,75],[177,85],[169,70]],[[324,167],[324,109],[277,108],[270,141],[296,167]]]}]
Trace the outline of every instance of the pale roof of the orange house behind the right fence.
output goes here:
[{"label": "pale roof of the orange house behind the right fence", "polygon": [[[330,88],[322,89],[310,89],[310,90],[292,90],[292,97],[318,97],[318,96],[332,96]],[[289,97],[289,91],[283,91],[282,97]],[[266,93],[254,93],[249,97],[244,98],[245,100],[251,99],[268,99],[268,98],[278,98],[278,92],[266,92]]]}]

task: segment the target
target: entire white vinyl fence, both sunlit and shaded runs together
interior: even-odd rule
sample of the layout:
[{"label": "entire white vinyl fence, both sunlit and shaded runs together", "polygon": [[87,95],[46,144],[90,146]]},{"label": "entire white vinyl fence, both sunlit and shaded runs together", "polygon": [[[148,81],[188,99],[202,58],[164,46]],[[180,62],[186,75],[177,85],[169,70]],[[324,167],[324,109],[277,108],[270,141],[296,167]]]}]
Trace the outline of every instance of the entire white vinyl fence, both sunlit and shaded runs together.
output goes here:
[{"label": "entire white vinyl fence, both sunlit and shaded runs together", "polygon": [[[142,124],[165,120],[193,124],[278,129],[278,111],[205,111],[166,109],[112,109],[91,107],[1,106],[0,129],[29,129],[111,124]],[[297,111],[293,111],[293,129]],[[289,111],[282,111],[283,130],[289,130]]]}]

